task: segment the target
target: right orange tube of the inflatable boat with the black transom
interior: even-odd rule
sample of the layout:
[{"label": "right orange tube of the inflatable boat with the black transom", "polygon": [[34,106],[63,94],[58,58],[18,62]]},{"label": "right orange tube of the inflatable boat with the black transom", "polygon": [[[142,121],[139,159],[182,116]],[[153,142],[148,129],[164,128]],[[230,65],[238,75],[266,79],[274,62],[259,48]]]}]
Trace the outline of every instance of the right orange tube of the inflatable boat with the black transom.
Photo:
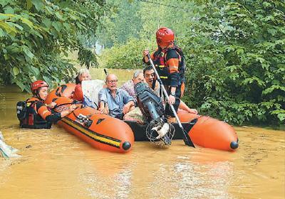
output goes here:
[{"label": "right orange tube of the inflatable boat with the black transom", "polygon": [[[178,117],[195,145],[223,151],[234,151],[239,146],[234,128],[226,122],[187,112],[178,112]],[[135,141],[148,140],[145,135],[147,126],[131,121],[125,122],[132,128]],[[184,134],[180,127],[178,127],[178,124],[174,123],[174,127],[175,135],[173,139],[183,139]]]}]

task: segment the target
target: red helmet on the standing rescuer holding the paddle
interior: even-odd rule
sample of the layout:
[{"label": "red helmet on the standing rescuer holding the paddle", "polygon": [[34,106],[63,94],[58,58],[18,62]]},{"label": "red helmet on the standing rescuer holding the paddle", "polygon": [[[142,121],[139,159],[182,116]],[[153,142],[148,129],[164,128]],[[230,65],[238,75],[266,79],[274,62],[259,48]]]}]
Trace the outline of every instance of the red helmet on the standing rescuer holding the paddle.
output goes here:
[{"label": "red helmet on the standing rescuer holding the paddle", "polygon": [[170,28],[159,28],[156,31],[156,42],[160,47],[166,47],[174,41],[174,33]]}]

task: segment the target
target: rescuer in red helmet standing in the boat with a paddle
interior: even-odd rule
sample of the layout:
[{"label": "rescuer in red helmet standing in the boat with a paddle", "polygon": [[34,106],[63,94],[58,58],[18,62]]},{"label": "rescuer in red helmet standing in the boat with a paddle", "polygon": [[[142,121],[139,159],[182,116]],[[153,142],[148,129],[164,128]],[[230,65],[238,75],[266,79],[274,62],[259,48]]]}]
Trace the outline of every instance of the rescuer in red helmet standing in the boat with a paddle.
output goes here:
[{"label": "rescuer in red helmet standing in the boat with a paddle", "polygon": [[[185,89],[185,57],[181,48],[175,45],[174,39],[174,33],[170,28],[159,28],[156,32],[158,48],[150,55],[169,95],[169,102],[165,106],[165,113],[169,122],[176,122],[175,115],[170,109],[170,104],[173,105],[177,112],[180,105],[180,97],[182,97]],[[143,62],[147,63],[147,65],[150,65],[150,61],[147,58],[149,53],[149,50],[143,50]]]}]

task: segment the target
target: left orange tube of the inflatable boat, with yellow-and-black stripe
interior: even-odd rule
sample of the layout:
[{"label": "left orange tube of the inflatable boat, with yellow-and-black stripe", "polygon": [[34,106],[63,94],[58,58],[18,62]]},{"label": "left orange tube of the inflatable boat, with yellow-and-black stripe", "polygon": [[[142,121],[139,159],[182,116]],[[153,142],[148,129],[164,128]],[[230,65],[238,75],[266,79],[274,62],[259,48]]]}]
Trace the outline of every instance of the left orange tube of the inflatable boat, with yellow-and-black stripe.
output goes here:
[{"label": "left orange tube of the inflatable boat, with yellow-and-black stripe", "polygon": [[[72,96],[74,88],[73,84],[58,87],[48,95],[46,103],[56,102],[56,112],[68,109],[68,106],[73,104],[73,99],[68,97]],[[134,143],[133,131],[128,124],[120,119],[100,114],[96,109],[83,107],[83,104],[77,104],[77,109],[57,124],[95,149],[126,153],[131,150]]]}]

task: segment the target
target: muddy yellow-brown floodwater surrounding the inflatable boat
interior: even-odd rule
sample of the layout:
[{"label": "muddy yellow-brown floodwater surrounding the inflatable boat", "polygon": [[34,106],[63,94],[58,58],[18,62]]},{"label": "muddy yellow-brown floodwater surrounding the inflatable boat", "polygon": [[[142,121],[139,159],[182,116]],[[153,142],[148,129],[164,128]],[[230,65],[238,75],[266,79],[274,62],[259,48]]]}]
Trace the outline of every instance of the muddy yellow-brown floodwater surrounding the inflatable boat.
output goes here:
[{"label": "muddy yellow-brown floodwater surrounding the inflatable boat", "polygon": [[112,154],[57,126],[19,129],[15,104],[26,98],[0,87],[0,130],[22,156],[0,158],[0,198],[285,198],[284,131],[235,127],[234,153],[177,140],[167,149],[136,142],[130,153]]}]

